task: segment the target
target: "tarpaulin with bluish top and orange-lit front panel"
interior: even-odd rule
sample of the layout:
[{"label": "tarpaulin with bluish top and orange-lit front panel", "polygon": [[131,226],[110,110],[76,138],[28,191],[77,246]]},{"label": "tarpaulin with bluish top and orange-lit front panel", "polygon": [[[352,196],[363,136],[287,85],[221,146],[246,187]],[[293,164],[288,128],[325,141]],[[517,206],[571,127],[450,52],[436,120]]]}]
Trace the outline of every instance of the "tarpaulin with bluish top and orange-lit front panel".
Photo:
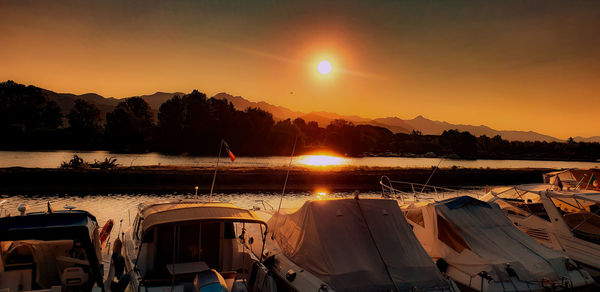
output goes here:
[{"label": "tarpaulin with bluish top and orange-lit front panel", "polygon": [[507,264],[521,281],[560,280],[567,275],[564,256],[517,229],[496,204],[458,197],[422,210],[429,217],[425,229],[430,231],[415,232],[430,255],[470,275],[485,271],[496,281],[505,281],[510,278]]}]

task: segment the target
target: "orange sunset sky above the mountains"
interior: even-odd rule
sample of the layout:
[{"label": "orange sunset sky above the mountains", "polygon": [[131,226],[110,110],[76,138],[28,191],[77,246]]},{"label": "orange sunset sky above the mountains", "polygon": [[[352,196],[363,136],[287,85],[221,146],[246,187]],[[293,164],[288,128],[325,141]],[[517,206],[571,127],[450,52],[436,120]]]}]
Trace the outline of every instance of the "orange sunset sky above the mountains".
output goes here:
[{"label": "orange sunset sky above the mountains", "polygon": [[0,81],[600,135],[599,1],[0,0],[0,15]]}]

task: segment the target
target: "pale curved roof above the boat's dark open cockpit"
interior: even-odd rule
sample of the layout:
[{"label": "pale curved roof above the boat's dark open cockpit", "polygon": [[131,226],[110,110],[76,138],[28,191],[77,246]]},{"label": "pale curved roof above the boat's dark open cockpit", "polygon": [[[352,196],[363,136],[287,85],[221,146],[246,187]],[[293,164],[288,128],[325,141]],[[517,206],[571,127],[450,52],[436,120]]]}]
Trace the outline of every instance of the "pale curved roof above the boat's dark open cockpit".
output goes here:
[{"label": "pale curved roof above the boat's dark open cockpit", "polygon": [[140,206],[140,214],[144,219],[143,231],[165,223],[181,221],[231,221],[267,223],[253,211],[223,202],[162,202]]}]

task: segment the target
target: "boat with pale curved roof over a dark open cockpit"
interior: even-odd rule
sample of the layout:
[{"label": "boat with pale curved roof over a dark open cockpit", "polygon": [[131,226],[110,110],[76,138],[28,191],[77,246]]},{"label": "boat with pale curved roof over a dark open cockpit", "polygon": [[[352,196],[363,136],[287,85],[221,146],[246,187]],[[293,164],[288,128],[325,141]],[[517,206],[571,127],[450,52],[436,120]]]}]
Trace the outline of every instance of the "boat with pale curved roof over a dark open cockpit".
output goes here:
[{"label": "boat with pale curved roof over a dark open cockpit", "polygon": [[[256,214],[224,202],[140,204],[123,235],[130,291],[276,291],[260,258],[247,248]],[[264,236],[257,241],[264,242]]]}]

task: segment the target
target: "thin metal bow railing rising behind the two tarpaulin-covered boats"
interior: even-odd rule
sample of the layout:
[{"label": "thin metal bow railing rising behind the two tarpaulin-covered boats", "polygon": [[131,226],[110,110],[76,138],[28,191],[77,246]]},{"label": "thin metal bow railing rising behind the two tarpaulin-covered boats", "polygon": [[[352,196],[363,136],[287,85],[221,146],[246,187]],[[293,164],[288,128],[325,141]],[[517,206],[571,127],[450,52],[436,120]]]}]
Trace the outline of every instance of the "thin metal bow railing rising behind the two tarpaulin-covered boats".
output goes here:
[{"label": "thin metal bow railing rising behind the two tarpaulin-covered boats", "polygon": [[429,184],[420,184],[415,182],[391,180],[387,176],[382,176],[379,180],[381,185],[381,195],[385,198],[400,199],[403,203],[409,199],[418,200],[444,200],[458,196],[468,195],[474,198],[480,198],[484,193],[474,189],[452,189]]}]

